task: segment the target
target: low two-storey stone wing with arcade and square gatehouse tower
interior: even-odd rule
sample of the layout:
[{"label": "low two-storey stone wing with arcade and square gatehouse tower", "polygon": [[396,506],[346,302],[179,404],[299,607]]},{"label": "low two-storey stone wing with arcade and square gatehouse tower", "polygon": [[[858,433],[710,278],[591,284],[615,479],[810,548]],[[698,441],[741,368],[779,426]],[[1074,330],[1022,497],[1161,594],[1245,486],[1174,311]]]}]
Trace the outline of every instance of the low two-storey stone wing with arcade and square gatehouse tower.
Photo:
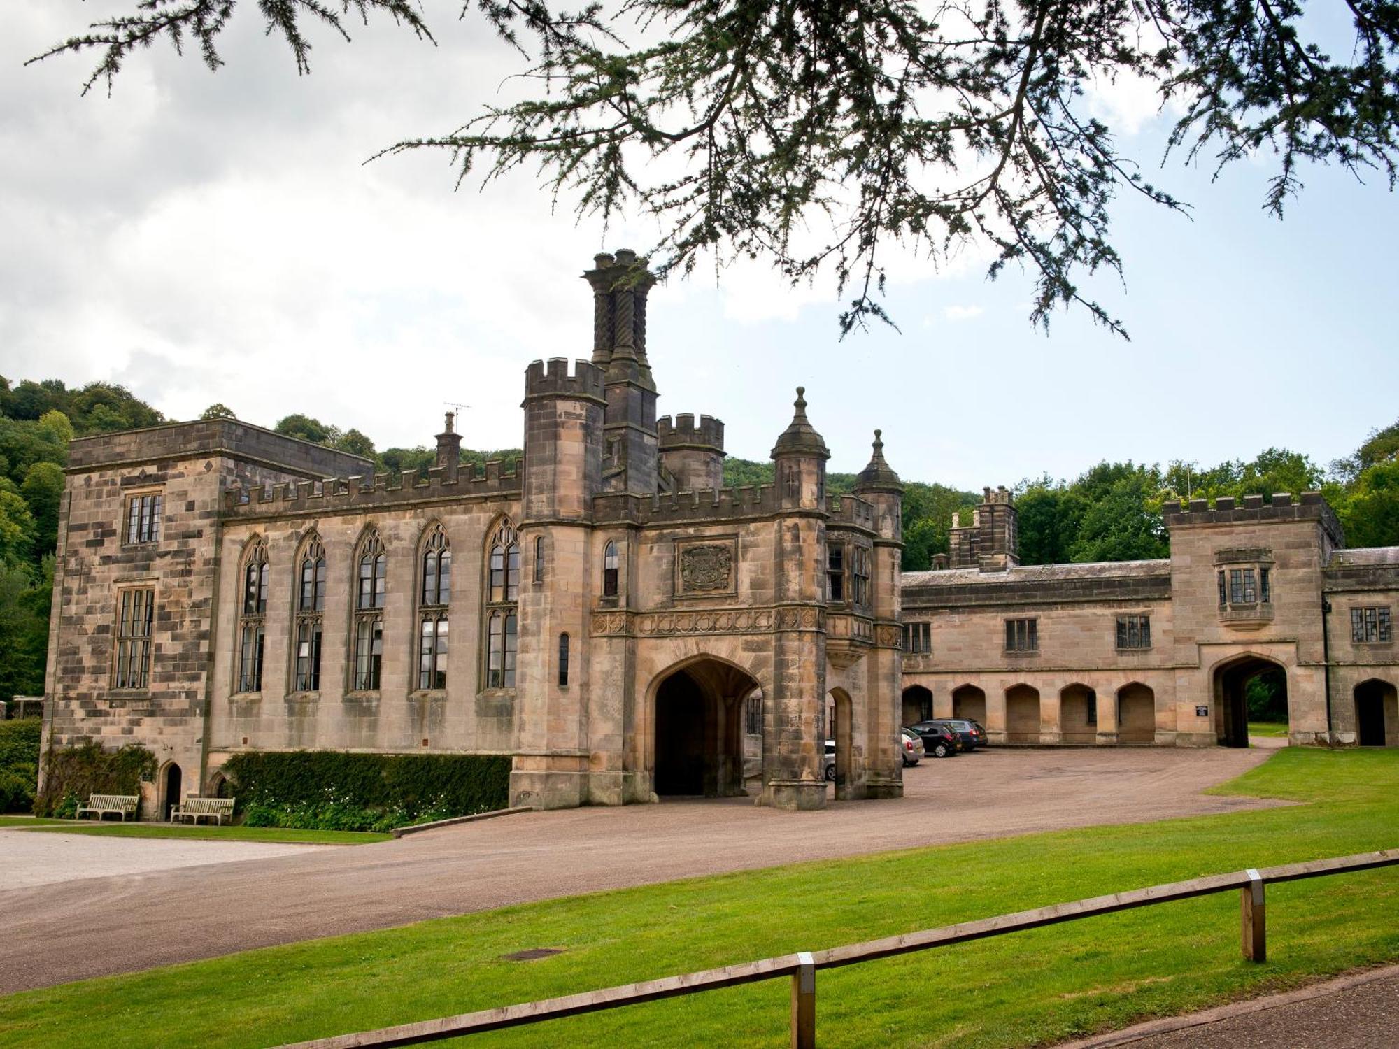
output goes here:
[{"label": "low two-storey stone wing with arcade and square gatehouse tower", "polygon": [[1272,671],[1293,743],[1399,745],[1399,547],[1346,550],[1319,492],[1164,511],[1168,558],[1020,565],[1013,499],[986,488],[946,564],[902,576],[904,723],[1247,747],[1245,690]]}]

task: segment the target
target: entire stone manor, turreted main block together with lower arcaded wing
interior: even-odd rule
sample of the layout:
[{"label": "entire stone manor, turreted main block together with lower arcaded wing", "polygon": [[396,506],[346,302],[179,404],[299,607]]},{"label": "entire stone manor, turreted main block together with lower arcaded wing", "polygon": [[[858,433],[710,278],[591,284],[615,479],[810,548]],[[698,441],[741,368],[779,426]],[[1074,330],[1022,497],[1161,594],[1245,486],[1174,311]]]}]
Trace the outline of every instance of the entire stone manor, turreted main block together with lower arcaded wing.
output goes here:
[{"label": "entire stone manor, turreted main block together with lower arcaded wing", "polygon": [[656,418],[649,274],[583,274],[590,359],[525,373],[523,460],[402,477],[234,420],[71,443],[45,743],[136,741],[147,813],[248,750],[502,754],[511,803],[902,792],[897,729],[1003,744],[1245,745],[1286,680],[1294,743],[1399,745],[1399,548],[1346,550],[1316,492],[1168,504],[1160,561],[1017,561],[985,492],[950,559],[900,572],[901,492],[852,495],[795,414],[775,483],[722,487],[723,424]]}]

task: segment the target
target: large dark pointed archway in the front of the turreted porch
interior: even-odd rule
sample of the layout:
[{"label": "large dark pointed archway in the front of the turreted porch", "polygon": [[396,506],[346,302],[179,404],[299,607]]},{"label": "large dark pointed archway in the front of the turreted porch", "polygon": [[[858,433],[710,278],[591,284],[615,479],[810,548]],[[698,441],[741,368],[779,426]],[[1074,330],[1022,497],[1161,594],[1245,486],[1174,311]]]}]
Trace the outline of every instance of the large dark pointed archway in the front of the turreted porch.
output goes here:
[{"label": "large dark pointed archway in the front of the turreted porch", "polygon": [[712,656],[684,663],[656,688],[655,769],[662,796],[733,797],[743,787],[746,670]]}]

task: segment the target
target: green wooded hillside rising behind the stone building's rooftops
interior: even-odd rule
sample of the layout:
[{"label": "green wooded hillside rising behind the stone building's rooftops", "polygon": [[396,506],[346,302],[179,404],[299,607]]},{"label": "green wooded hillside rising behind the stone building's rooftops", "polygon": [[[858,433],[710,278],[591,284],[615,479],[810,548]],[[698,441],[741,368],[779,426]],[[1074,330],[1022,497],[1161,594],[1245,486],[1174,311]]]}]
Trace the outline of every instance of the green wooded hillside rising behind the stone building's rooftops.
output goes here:
[{"label": "green wooded hillside rising behind the stone building's rooftops", "polygon": [[[203,418],[234,417],[213,404]],[[88,383],[70,390],[56,379],[11,387],[0,376],[0,699],[39,695],[49,636],[53,551],[57,541],[63,467],[74,436],[150,427],[166,418],[130,390]],[[376,450],[358,429],[341,429],[309,415],[288,415],[278,434],[372,457],[382,470],[432,464],[434,449]],[[462,462],[513,463],[519,449],[462,449]],[[979,497],[943,484],[909,480],[905,466],[904,568],[925,569],[947,551],[951,515]],[[769,484],[772,463],[727,459],[725,484]],[[855,474],[828,476],[832,495],[849,492]],[[996,480],[996,478],[992,478]],[[1016,485],[1023,564],[1129,561],[1165,557],[1161,504],[1178,498],[1241,497],[1322,488],[1351,547],[1399,545],[1399,421],[1375,429],[1344,459],[1322,469],[1307,455],[1270,448],[1252,460],[1193,466],[1101,462],[1073,480],[1048,476]]]}]

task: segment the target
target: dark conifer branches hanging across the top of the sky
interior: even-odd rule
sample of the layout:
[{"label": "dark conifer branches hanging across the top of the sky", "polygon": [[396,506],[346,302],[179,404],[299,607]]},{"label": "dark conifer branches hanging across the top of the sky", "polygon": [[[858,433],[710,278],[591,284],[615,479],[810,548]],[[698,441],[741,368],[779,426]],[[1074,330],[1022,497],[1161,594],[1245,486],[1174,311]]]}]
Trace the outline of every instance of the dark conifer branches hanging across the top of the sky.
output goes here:
[{"label": "dark conifer branches hanging across the top of the sky", "polygon": [[[236,6],[140,0],[35,60],[95,50],[85,88],[111,90],[133,52],[165,39],[217,69]],[[306,24],[348,38],[347,20],[383,15],[432,41],[410,0],[256,7],[301,73]],[[1270,151],[1265,207],[1279,217],[1308,162],[1392,189],[1399,3],[1340,10],[1350,39],[1332,57],[1301,0],[467,0],[462,15],[518,50],[539,92],[385,152],[449,150],[459,185],[523,166],[579,217],[651,217],[662,276],[711,256],[769,262],[793,284],[830,274],[849,297],[842,334],[890,322],[879,298],[897,249],[940,264],[978,242],[992,277],[1032,274],[1034,324],[1080,306],[1125,336],[1080,287],[1122,273],[1109,204],[1122,192],[1185,204],[1119,151],[1088,90],[1150,81],[1179,113],[1168,152],[1192,161]]]}]

